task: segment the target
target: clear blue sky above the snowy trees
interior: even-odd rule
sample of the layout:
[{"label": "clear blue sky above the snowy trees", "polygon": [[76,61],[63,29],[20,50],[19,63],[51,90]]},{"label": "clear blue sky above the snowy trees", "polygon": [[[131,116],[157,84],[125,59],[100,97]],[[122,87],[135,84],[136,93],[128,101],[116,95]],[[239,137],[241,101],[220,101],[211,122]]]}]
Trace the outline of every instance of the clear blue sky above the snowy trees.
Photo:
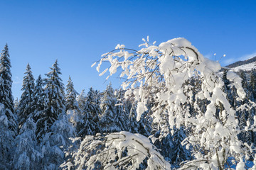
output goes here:
[{"label": "clear blue sky above the snowy trees", "polygon": [[223,66],[256,55],[255,1],[0,2],[0,47],[9,44],[15,98],[28,62],[37,79],[56,59],[64,84],[70,75],[79,93],[102,91],[108,82],[91,64],[118,43],[137,49],[147,35],[158,43],[187,38],[213,60],[225,54]]}]

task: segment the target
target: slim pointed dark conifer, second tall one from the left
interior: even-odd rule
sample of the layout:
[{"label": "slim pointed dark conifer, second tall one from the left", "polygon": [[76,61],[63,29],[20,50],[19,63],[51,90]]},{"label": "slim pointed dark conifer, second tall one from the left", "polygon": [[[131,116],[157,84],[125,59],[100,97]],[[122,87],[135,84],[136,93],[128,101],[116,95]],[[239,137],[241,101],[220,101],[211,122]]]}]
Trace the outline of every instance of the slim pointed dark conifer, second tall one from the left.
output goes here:
[{"label": "slim pointed dark conifer, second tall one from the left", "polygon": [[28,117],[32,117],[32,103],[33,103],[33,90],[35,88],[35,79],[31,72],[31,67],[28,64],[26,67],[25,77],[23,77],[21,101],[18,105],[18,116],[19,116],[19,126],[25,123]]}]

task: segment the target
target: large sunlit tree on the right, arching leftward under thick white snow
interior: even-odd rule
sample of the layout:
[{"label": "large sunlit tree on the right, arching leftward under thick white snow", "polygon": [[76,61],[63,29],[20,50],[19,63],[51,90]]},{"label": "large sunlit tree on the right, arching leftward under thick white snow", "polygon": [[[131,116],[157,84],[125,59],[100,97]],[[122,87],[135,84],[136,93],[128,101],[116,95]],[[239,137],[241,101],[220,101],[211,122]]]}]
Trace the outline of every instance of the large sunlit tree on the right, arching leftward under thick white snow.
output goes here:
[{"label": "large sunlit tree on the right, arching leftward under thick white snow", "polygon": [[[144,40],[144,39],[143,39]],[[238,128],[236,109],[247,109],[245,105],[234,108],[223,91],[224,82],[217,72],[220,64],[203,57],[200,52],[184,38],[175,38],[160,45],[149,44],[139,51],[125,49],[117,45],[116,50],[103,55],[98,62],[100,71],[102,62],[110,62],[105,69],[110,76],[121,69],[120,77],[127,78],[122,84],[128,89],[125,96],[134,96],[137,101],[137,120],[147,111],[149,100],[156,103],[151,115],[154,122],[161,122],[161,113],[168,114],[170,128],[184,127],[191,132],[183,141],[183,145],[192,149],[194,160],[182,164],[181,169],[225,169],[231,164],[242,168],[249,157],[250,149],[243,147],[238,140],[242,130],[255,128],[247,123],[245,129]],[[102,75],[100,74],[100,75]],[[198,94],[193,95],[193,88],[186,82],[199,79]],[[235,101],[245,98],[242,79],[232,71],[227,79],[235,87],[238,97]],[[198,101],[207,101],[205,110],[201,110]],[[196,113],[191,115],[190,106]]]}]

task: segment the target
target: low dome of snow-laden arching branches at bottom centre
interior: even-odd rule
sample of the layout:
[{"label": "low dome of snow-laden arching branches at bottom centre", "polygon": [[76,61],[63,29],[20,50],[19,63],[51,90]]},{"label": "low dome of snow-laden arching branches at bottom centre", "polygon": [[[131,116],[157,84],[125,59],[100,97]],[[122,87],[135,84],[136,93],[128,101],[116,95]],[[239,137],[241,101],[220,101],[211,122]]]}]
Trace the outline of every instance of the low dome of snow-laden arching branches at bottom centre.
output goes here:
[{"label": "low dome of snow-laden arching branches at bottom centre", "polygon": [[105,137],[87,136],[63,169],[171,169],[147,137],[115,132]]}]

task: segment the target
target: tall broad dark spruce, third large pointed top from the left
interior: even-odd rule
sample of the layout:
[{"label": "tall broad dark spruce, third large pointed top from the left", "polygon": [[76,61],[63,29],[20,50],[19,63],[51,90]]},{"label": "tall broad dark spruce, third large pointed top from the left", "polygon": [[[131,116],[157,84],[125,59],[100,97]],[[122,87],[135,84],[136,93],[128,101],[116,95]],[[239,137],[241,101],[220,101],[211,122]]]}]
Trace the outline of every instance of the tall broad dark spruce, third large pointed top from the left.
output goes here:
[{"label": "tall broad dark spruce, third large pointed top from the left", "polygon": [[42,126],[41,150],[43,154],[41,169],[58,169],[65,160],[64,152],[70,146],[70,137],[75,137],[73,125],[65,113],[65,94],[58,62],[53,64],[46,74],[44,89],[45,109],[38,120]]}]

